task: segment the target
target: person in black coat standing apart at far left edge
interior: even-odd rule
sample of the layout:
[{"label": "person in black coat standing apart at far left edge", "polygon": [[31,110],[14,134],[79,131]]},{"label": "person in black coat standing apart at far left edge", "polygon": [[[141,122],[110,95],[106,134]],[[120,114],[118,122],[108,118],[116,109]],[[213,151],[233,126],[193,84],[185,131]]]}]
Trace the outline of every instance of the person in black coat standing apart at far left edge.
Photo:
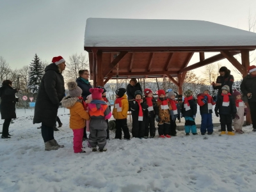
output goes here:
[{"label": "person in black coat standing apart at far left edge", "polygon": [[1,119],[4,119],[3,124],[3,132],[1,138],[7,139],[10,138],[9,134],[9,126],[12,118],[16,118],[15,113],[15,104],[16,98],[15,93],[18,92],[18,89],[12,88],[12,81],[6,79],[2,83],[2,87],[0,88],[0,111],[1,111]]}]

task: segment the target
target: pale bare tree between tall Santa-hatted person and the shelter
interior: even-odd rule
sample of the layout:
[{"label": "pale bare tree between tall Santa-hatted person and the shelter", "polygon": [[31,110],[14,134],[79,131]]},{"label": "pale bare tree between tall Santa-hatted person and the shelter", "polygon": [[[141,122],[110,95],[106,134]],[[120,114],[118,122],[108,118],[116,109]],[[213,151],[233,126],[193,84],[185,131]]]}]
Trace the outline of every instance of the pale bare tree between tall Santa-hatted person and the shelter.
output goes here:
[{"label": "pale bare tree between tall Santa-hatted person and the shelter", "polygon": [[79,77],[79,70],[89,70],[89,62],[86,60],[86,56],[82,53],[80,55],[72,54],[69,57],[70,62],[67,63],[67,69],[65,70],[64,76],[68,81],[74,81]]}]

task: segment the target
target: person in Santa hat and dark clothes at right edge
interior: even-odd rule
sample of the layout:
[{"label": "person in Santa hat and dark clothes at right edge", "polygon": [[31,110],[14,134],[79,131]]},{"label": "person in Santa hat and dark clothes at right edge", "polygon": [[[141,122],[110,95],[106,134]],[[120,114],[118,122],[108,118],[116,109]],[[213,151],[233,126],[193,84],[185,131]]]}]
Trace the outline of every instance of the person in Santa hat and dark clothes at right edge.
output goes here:
[{"label": "person in Santa hat and dark clothes at right edge", "polygon": [[248,75],[243,78],[241,91],[245,97],[248,97],[248,104],[252,118],[253,131],[256,131],[256,66],[248,68]]}]

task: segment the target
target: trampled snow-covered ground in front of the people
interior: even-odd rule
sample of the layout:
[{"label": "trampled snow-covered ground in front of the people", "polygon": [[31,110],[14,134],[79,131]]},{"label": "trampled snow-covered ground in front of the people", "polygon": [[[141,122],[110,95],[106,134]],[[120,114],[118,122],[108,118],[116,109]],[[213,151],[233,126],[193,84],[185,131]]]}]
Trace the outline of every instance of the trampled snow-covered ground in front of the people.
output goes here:
[{"label": "trampled snow-covered ground in front of the people", "polygon": [[68,113],[59,109],[63,127],[54,132],[65,148],[48,152],[39,124],[32,124],[33,110],[17,109],[12,138],[0,140],[0,191],[256,190],[256,133],[250,126],[236,136],[219,136],[214,127],[211,136],[178,131],[170,139],[110,140],[107,152],[74,154]]}]

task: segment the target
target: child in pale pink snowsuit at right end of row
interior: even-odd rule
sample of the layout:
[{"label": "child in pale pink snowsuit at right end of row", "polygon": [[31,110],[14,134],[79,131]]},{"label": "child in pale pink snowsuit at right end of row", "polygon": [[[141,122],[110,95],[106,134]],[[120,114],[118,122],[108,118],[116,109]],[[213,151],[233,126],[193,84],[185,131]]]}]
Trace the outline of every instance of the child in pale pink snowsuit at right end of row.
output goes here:
[{"label": "child in pale pink snowsuit at right end of row", "polygon": [[237,109],[236,118],[234,118],[233,120],[234,129],[237,133],[243,134],[244,131],[242,130],[242,128],[244,124],[244,115],[246,115],[248,109],[242,100],[242,94],[240,92],[237,92],[236,89],[233,90],[233,97],[235,99]]}]

